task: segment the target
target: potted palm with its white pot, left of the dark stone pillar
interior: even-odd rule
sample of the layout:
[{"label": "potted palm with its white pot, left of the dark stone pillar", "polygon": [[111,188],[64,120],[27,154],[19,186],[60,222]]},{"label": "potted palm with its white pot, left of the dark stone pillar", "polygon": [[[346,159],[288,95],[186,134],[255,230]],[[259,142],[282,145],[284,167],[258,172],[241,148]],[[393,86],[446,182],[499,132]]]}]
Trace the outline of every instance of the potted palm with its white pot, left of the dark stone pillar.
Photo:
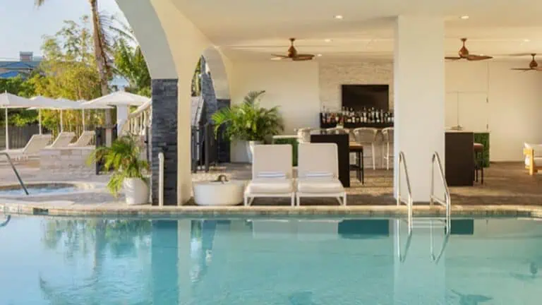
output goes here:
[{"label": "potted palm with its white pot, left of the dark stone pillar", "polygon": [[124,189],[126,203],[137,205],[149,203],[149,186],[143,173],[149,169],[145,160],[139,160],[140,145],[133,136],[115,140],[111,147],[97,148],[90,154],[89,163],[103,162],[104,169],[114,170],[107,189],[116,197]]}]

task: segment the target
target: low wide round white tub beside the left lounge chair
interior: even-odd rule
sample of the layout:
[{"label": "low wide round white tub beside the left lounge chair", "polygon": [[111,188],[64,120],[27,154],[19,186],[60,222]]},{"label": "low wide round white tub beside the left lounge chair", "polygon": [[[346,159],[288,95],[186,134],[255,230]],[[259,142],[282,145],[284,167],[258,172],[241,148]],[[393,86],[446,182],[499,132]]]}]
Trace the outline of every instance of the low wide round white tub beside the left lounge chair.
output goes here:
[{"label": "low wide round white tub beside the left lounge chair", "polygon": [[238,205],[243,202],[245,182],[231,180],[194,182],[194,202],[197,205]]}]

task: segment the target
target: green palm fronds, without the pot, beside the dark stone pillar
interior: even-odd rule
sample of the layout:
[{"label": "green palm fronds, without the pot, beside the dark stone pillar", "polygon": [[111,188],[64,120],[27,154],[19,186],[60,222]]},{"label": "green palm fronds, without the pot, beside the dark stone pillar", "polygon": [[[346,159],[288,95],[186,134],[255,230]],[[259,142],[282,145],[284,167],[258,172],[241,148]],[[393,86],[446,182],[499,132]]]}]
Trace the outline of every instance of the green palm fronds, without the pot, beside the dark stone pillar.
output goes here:
[{"label": "green palm fronds, without the pot, beside the dark stone pillar", "polygon": [[118,196],[124,179],[138,178],[145,181],[143,172],[149,169],[149,165],[147,161],[139,160],[140,155],[140,145],[135,136],[123,136],[116,139],[111,147],[95,149],[87,162],[89,164],[103,162],[105,170],[114,170],[114,174],[107,183],[107,189],[114,196]]}]

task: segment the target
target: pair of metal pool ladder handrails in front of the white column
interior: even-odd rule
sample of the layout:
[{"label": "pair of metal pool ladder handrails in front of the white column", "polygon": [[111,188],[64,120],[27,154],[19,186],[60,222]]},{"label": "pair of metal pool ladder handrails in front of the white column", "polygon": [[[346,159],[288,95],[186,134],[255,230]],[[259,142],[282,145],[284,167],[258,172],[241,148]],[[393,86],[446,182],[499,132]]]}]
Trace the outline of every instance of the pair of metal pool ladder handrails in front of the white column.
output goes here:
[{"label": "pair of metal pool ladder handrails in front of the white column", "polygon": [[[439,198],[438,196],[435,196],[435,163],[438,166],[440,180],[442,181],[442,185],[445,190],[444,198]],[[404,204],[407,207],[406,223],[409,227],[409,234],[412,232],[413,227],[432,229],[435,226],[440,226],[440,227],[444,227],[447,233],[450,232],[452,201],[450,198],[450,190],[448,189],[446,178],[444,176],[444,171],[442,170],[442,162],[440,161],[438,152],[434,152],[433,157],[431,159],[431,192],[430,192],[429,204],[434,205],[434,203],[436,202],[444,206],[446,210],[445,217],[417,217],[417,219],[414,219],[412,215],[412,208],[413,208],[412,191],[411,191],[411,186],[410,186],[409,171],[408,171],[408,168],[406,167],[406,158],[404,157],[404,152],[399,152],[398,166],[399,166],[399,173],[397,177],[397,205]],[[401,180],[402,180],[401,173],[402,172],[404,172],[404,176],[406,180],[406,191],[408,192],[406,198],[403,198],[402,191],[401,191]]]}]

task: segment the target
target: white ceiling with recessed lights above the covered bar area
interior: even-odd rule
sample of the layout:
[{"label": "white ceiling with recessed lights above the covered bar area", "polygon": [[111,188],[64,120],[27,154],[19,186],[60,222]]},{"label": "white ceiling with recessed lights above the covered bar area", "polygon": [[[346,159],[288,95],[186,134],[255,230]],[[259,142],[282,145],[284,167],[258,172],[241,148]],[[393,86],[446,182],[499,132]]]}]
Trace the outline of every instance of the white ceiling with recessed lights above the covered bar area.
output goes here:
[{"label": "white ceiling with recessed lights above the covered bar area", "polygon": [[[395,16],[440,16],[445,50],[469,37],[474,54],[529,61],[542,58],[541,0],[171,0],[230,59],[269,59],[289,37],[318,60],[383,58],[393,52]],[[344,19],[337,20],[335,15]],[[460,16],[468,15],[468,20]],[[331,42],[325,42],[331,39]],[[526,40],[529,40],[528,42]]]}]

